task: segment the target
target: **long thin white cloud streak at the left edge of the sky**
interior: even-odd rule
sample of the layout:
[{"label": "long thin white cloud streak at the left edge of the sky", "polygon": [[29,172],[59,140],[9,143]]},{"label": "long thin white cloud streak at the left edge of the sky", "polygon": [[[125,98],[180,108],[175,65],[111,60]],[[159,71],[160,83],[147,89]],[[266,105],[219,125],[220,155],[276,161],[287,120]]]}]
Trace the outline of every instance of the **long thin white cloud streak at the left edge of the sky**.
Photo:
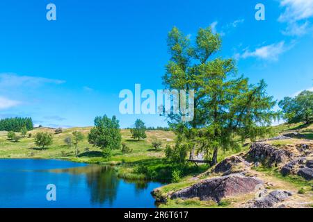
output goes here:
[{"label": "long thin white cloud streak at the left edge of the sky", "polygon": [[62,84],[63,80],[34,76],[18,76],[17,74],[0,74],[0,87],[38,87],[45,84]]}]

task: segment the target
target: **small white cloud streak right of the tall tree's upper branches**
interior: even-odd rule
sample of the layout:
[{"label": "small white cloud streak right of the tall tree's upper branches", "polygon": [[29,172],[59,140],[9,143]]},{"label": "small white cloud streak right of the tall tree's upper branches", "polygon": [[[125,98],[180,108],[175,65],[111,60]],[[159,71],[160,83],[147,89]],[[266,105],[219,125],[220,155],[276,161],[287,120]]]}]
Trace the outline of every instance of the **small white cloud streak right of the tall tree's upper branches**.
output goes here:
[{"label": "small white cloud streak right of the tall tree's upper branches", "polygon": [[269,44],[267,46],[262,46],[254,51],[249,51],[248,49],[244,51],[242,54],[236,54],[235,58],[260,58],[262,60],[278,60],[280,54],[284,53],[288,49],[290,49],[291,46],[287,47],[285,46],[284,41],[279,42],[277,44]]}]

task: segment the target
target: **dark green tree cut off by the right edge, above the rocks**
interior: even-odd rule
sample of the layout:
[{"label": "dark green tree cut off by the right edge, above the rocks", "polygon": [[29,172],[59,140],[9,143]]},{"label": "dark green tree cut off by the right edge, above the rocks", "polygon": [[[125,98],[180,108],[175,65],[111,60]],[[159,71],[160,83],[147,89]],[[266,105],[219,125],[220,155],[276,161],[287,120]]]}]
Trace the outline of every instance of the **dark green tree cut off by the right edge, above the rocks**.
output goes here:
[{"label": "dark green tree cut off by the right edge, above the rocks", "polygon": [[295,98],[284,97],[278,105],[289,123],[304,121],[309,124],[313,121],[313,92],[305,90]]}]

